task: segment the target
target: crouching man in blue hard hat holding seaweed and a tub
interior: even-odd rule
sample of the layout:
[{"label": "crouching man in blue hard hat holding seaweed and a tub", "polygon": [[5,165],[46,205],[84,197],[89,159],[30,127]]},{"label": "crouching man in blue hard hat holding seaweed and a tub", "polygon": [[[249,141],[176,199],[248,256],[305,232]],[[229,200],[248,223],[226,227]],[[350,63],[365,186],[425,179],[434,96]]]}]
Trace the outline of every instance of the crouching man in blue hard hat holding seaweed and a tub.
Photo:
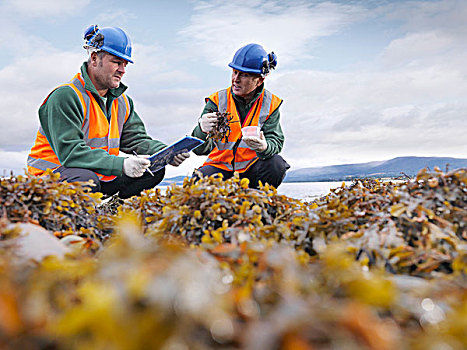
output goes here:
[{"label": "crouching man in blue hard hat holding seaweed and a tub", "polygon": [[[234,55],[231,86],[206,98],[206,105],[192,132],[206,140],[193,152],[208,154],[195,176],[222,174],[224,179],[238,172],[250,180],[278,187],[290,166],[279,155],[284,144],[279,107],[282,100],[264,88],[265,77],[275,69],[277,56],[261,45],[248,44]],[[229,113],[229,131],[220,140],[212,137],[219,113]],[[217,137],[219,138],[219,137]]]}]

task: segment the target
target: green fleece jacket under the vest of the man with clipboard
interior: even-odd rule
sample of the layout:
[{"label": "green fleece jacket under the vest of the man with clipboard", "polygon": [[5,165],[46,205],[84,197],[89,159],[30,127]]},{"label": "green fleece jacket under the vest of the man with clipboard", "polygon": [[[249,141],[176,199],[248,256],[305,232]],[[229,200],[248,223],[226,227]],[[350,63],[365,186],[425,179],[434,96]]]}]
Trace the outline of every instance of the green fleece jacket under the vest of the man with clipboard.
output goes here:
[{"label": "green fleece jacket under the vest of the man with clipboard", "polygon": [[[86,62],[81,66],[81,75],[85,81],[85,89],[91,92],[110,119],[112,102],[123,94],[127,87],[120,83],[118,88],[110,89],[104,106],[104,99],[99,96],[89,78]],[[138,154],[152,154],[166,147],[164,143],[153,140],[146,133],[142,120],[135,112],[133,100],[128,97],[128,101],[130,114],[123,125],[120,150],[128,154],[132,151]],[[122,175],[124,157],[110,155],[104,150],[91,149],[86,145],[81,130],[84,121],[83,109],[72,88],[62,86],[55,89],[47,102],[39,108],[39,120],[47,140],[63,166],[91,169],[103,175]]]}]

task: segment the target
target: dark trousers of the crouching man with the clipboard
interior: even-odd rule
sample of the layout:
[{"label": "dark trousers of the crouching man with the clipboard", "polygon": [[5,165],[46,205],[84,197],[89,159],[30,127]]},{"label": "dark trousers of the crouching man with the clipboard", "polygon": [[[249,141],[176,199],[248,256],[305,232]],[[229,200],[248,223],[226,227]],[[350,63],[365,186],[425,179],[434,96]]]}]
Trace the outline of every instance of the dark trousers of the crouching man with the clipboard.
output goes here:
[{"label": "dark trousers of the crouching man with the clipboard", "polygon": [[164,178],[165,169],[155,172],[154,176],[146,171],[141,177],[132,178],[123,174],[112,181],[100,181],[94,171],[82,168],[60,166],[54,170],[54,173],[60,173],[60,181],[86,182],[93,180],[95,185],[90,187],[92,192],[102,192],[108,195],[119,192],[118,196],[125,199],[137,196],[143,190],[155,187]]}]

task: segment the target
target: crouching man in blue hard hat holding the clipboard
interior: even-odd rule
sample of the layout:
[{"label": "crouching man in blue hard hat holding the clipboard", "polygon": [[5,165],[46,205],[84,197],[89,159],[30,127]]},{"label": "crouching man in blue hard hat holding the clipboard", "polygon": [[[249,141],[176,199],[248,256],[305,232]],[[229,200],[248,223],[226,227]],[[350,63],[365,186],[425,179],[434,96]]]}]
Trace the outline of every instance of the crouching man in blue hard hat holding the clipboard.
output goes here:
[{"label": "crouching man in blue hard hat holding the clipboard", "polygon": [[[121,82],[131,59],[131,41],[120,28],[85,30],[88,60],[73,79],[55,88],[39,108],[40,128],[28,156],[28,171],[42,175],[47,169],[68,182],[93,181],[91,190],[120,198],[138,195],[164,178],[153,173],[145,156],[166,145],[152,139],[124,94]],[[120,151],[131,156],[122,157]],[[188,153],[175,156],[180,165]]]}]

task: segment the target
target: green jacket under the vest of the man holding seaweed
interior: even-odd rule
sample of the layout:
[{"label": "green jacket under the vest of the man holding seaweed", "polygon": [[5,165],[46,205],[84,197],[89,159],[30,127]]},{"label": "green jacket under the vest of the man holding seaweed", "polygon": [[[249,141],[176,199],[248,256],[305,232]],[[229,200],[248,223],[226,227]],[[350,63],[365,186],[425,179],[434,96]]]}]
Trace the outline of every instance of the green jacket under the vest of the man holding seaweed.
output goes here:
[{"label": "green jacket under the vest of the man holding seaweed", "polygon": [[[237,111],[238,111],[240,120],[242,122],[243,120],[245,120],[246,115],[248,114],[248,111],[251,109],[255,101],[259,98],[259,96],[263,92],[263,89],[264,89],[264,84],[258,87],[258,89],[256,90],[255,96],[249,103],[246,103],[243,98],[236,96],[232,92],[232,96],[235,100],[235,106],[237,107]],[[203,113],[201,113],[201,115],[205,113],[209,113],[210,111],[217,112],[218,109],[214,103],[212,103],[211,101],[208,101],[206,105],[204,106],[204,110],[203,110]],[[282,132],[282,127],[280,124],[279,108],[276,109],[269,116],[269,118],[266,120],[261,130],[264,133],[264,137],[266,139],[268,147],[266,148],[265,151],[256,152],[256,154],[258,155],[260,159],[268,159],[268,158],[271,158],[273,155],[280,153],[284,145],[284,133]],[[201,131],[201,127],[199,123],[194,128],[191,134],[192,136],[198,137],[202,140],[207,140],[204,144],[202,144],[201,146],[193,150],[195,154],[206,155],[206,154],[209,154],[214,149],[214,146],[215,146],[214,141],[212,139],[208,139],[207,138],[208,134]]]}]

